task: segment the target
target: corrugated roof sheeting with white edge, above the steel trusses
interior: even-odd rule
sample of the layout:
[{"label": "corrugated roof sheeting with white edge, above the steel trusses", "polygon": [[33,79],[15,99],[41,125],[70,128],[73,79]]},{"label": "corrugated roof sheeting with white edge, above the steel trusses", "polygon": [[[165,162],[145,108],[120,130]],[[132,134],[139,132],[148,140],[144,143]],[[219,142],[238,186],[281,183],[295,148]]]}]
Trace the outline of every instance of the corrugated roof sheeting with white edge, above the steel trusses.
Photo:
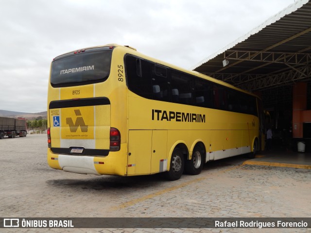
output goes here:
[{"label": "corrugated roof sheeting with white edge, above the steel trusses", "polygon": [[[305,6],[303,7],[303,5]],[[268,18],[265,22],[254,28],[249,33],[246,33],[221,50],[218,50],[214,54],[208,56],[206,59],[191,67],[191,69],[199,72],[201,70],[204,71],[204,73],[208,73],[208,70],[206,72],[205,69],[200,67],[210,66],[209,64],[206,64],[208,61],[211,61],[213,58],[220,57],[220,55],[223,55],[227,50],[262,51],[271,45],[275,45],[276,43],[310,27],[311,3],[309,0],[298,0],[277,13],[275,16]],[[310,39],[310,35],[305,36],[305,38],[301,39],[301,41],[295,40],[287,45],[277,46],[274,51],[299,51],[300,49],[304,49],[306,46],[310,46],[310,40],[308,41],[308,39]],[[303,43],[300,44],[300,42]],[[290,45],[292,45],[292,47]],[[297,48],[297,46],[300,48]],[[221,56],[221,59],[223,58],[224,55]],[[211,71],[213,72],[214,70],[211,69]]]}]

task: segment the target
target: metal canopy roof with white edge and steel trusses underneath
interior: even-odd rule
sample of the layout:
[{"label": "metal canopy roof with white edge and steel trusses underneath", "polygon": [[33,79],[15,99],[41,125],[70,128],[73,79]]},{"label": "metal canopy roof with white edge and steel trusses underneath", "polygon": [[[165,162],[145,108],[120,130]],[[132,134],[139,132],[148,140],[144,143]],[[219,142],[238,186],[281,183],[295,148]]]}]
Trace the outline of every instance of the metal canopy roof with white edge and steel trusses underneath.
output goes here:
[{"label": "metal canopy roof with white edge and steel trusses underneath", "polygon": [[192,69],[263,95],[277,87],[272,98],[288,96],[289,85],[311,80],[311,1],[294,2]]}]

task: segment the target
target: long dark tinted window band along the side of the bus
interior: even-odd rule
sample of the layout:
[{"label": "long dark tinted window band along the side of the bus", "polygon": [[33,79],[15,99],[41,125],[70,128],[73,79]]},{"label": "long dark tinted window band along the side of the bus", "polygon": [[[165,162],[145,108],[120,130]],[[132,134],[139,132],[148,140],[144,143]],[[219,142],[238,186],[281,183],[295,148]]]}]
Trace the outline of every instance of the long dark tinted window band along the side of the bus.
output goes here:
[{"label": "long dark tinted window band along the side of the bus", "polygon": [[256,97],[132,55],[125,56],[128,88],[153,100],[258,116]]}]

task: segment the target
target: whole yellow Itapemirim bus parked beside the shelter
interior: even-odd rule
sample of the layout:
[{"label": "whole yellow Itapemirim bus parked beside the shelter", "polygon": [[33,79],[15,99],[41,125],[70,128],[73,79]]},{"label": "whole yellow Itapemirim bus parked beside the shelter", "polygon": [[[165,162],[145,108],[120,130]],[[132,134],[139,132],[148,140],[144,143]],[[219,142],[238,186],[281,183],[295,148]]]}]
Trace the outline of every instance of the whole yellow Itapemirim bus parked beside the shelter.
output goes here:
[{"label": "whole yellow Itapemirim bus parked beside the shelter", "polygon": [[254,156],[261,112],[257,96],[129,46],[76,50],[51,65],[48,164],[177,180],[211,160]]}]

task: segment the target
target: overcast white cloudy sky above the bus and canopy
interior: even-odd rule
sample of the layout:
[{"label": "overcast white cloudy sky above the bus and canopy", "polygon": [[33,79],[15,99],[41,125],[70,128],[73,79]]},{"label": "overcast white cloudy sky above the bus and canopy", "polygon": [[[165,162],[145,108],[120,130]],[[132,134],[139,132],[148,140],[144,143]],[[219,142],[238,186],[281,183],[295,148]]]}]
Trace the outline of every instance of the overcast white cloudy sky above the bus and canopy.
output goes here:
[{"label": "overcast white cloudy sky above the bus and canopy", "polygon": [[294,0],[7,0],[0,14],[0,109],[46,110],[51,61],[109,43],[189,68]]}]

